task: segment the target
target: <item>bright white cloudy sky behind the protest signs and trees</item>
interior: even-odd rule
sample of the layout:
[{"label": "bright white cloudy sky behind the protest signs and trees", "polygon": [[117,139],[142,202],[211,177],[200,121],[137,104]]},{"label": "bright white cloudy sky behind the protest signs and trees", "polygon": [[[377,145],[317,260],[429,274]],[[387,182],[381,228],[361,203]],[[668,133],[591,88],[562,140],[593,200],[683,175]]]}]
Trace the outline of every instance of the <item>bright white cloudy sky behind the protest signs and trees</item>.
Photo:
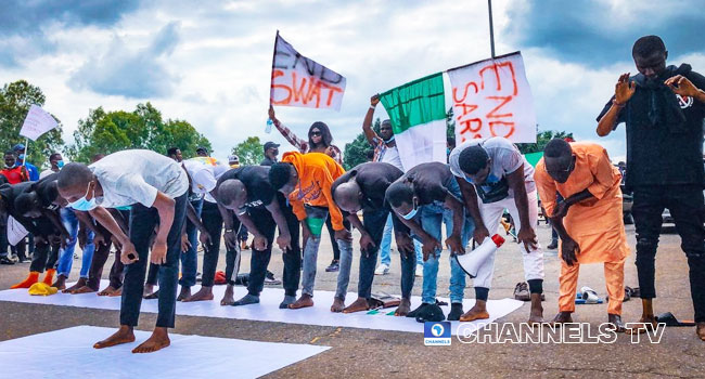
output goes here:
[{"label": "bright white cloudy sky behind the protest signs and trees", "polygon": [[[512,24],[508,9],[516,4],[493,5],[497,53],[521,50],[507,31]],[[165,118],[194,125],[211,141],[218,157],[225,158],[249,135],[282,143],[286,151],[290,145],[279,134],[264,132],[279,29],[300,53],[344,75],[347,90],[339,113],[279,107],[278,116],[300,135],[311,122],[325,121],[342,147],[361,131],[372,94],[486,58],[486,6],[484,1],[450,0],[249,0],[198,6],[185,0],[154,1],[110,28],[52,28],[55,49],[0,70],[0,81],[27,79],[39,86],[47,95],[46,107],[64,122],[67,141],[89,108],[131,110],[139,102],[151,101]],[[178,43],[156,42],[176,41],[177,36]],[[541,129],[573,132],[578,140],[604,144],[613,157],[624,156],[624,130],[598,139],[594,118],[612,94],[614,80],[623,71],[633,71],[632,65],[592,68],[564,63],[541,49],[523,50]],[[684,58],[695,69],[705,65],[703,55]],[[139,73],[149,75],[137,76],[134,86]],[[72,77],[82,86],[67,84]],[[382,107],[376,116],[386,117]]]}]

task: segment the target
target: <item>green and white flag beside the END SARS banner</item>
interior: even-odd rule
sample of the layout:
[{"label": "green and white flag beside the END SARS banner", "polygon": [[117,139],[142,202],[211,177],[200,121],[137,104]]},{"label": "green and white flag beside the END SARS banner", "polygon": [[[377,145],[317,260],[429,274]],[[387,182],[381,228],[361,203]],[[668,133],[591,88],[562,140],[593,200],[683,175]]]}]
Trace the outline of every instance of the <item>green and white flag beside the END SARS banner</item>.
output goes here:
[{"label": "green and white flag beside the END SARS banner", "polygon": [[446,101],[443,73],[380,94],[389,115],[405,171],[419,164],[446,162]]}]

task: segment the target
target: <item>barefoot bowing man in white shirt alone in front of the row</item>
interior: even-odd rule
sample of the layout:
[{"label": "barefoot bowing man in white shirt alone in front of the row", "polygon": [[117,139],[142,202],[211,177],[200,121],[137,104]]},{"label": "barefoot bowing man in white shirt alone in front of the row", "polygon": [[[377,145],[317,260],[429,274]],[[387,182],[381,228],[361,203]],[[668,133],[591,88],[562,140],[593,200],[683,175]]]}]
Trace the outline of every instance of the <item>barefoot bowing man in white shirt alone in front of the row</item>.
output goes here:
[{"label": "barefoot bowing man in white shirt alone in front of the row", "polygon": [[[150,353],[169,345],[168,329],[175,326],[176,292],[185,220],[189,179],[176,161],[150,151],[111,154],[90,167],[68,164],[59,172],[59,193],[69,206],[90,214],[121,246],[125,284],[120,327],[93,345],[95,349],[134,341],[140,316],[146,262],[159,264],[159,300],[156,327],[133,353]],[[132,206],[129,237],[105,208]],[[156,237],[150,256],[150,240]]]}]

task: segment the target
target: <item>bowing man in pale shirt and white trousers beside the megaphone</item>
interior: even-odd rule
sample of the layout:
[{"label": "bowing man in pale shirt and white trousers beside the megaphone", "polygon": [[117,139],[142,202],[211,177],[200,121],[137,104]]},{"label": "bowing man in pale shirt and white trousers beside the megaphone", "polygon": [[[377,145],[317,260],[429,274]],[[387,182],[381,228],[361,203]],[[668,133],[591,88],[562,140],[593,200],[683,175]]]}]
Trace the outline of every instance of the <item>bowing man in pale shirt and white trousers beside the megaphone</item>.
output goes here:
[{"label": "bowing man in pale shirt and white trousers beside the megaphone", "polygon": [[[534,168],[509,140],[493,136],[471,140],[456,147],[449,156],[450,171],[458,178],[467,212],[475,220],[474,238],[482,244],[497,233],[504,209],[516,227],[524,260],[524,275],[531,299],[529,323],[543,321],[543,251],[536,239],[538,200]],[[489,318],[486,304],[495,270],[495,254],[485,261],[473,280],[475,305],[460,321]]]}]

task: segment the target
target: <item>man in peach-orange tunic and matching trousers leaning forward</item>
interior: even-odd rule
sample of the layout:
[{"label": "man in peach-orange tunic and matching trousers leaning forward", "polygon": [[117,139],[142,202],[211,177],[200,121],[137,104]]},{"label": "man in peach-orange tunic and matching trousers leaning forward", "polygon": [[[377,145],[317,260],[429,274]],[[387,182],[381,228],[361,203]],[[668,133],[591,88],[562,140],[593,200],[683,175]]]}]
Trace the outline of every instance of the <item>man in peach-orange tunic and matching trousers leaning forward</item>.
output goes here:
[{"label": "man in peach-orange tunic and matching trousers leaning forward", "polygon": [[[625,331],[621,302],[629,247],[621,214],[619,170],[598,144],[569,144],[555,139],[546,145],[534,180],[551,224],[561,236],[559,314],[553,323],[573,322],[580,264],[603,262],[610,296],[607,319],[616,331]],[[556,191],[565,200],[556,202]]]}]

